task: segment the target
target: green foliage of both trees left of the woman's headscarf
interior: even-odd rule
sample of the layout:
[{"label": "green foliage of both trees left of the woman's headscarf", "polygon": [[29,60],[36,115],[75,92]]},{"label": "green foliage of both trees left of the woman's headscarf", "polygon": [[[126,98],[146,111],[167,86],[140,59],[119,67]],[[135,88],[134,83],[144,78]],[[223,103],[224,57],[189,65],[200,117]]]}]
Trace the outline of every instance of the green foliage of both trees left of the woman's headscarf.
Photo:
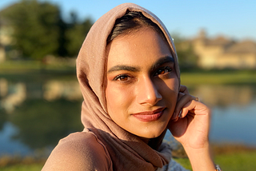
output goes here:
[{"label": "green foliage of both trees left of the woman's headscarf", "polygon": [[14,48],[22,58],[76,56],[92,26],[89,19],[66,23],[58,6],[38,0],[22,0],[0,14],[13,26]]}]

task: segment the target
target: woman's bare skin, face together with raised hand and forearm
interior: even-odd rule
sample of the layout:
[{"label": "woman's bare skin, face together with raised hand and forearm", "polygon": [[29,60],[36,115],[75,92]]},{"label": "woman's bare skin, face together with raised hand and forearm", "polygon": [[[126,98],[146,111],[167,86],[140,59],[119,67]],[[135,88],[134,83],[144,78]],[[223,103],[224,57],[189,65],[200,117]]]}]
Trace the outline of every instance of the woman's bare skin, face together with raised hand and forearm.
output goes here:
[{"label": "woman's bare skin, face together with raised hand and forearm", "polygon": [[[208,140],[210,109],[186,86],[179,88],[167,42],[142,27],[114,38],[106,49],[106,105],[111,119],[146,143],[167,127],[183,145],[193,170],[214,170]],[[142,113],[154,117],[143,120]]]}]

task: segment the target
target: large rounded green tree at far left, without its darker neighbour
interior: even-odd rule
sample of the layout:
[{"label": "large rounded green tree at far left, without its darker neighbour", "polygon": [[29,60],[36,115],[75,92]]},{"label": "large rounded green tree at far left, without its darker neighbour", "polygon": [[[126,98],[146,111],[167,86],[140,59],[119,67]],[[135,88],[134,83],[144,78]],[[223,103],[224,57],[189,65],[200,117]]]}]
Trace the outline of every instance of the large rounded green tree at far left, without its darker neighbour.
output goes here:
[{"label": "large rounded green tree at far left, without its darker neighbour", "polygon": [[65,46],[62,37],[65,24],[58,6],[22,0],[3,10],[1,15],[14,27],[14,48],[25,58],[42,59],[47,54],[58,55],[59,49]]}]

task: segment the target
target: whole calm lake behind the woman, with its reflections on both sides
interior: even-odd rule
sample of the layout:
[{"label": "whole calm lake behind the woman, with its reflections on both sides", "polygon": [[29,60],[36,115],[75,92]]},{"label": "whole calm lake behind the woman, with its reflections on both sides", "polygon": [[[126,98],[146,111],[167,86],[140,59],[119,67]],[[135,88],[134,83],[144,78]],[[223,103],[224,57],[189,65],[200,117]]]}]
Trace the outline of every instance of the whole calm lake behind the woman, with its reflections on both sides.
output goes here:
[{"label": "whole calm lake behind the woman, with its reflections on both sides", "polygon": [[[256,147],[255,85],[188,87],[212,109],[211,142]],[[49,155],[60,138],[82,130],[81,103],[74,75],[0,77],[0,156]]]}]

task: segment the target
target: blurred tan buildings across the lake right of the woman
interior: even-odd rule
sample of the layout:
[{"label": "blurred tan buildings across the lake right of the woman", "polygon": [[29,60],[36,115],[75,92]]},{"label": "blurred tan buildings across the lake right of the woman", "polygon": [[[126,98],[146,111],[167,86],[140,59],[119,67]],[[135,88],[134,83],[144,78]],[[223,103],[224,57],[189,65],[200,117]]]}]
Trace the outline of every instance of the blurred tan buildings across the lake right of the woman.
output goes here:
[{"label": "blurred tan buildings across the lake right of the woman", "polygon": [[256,69],[256,42],[234,42],[222,36],[210,39],[202,30],[191,43],[203,69]]}]

